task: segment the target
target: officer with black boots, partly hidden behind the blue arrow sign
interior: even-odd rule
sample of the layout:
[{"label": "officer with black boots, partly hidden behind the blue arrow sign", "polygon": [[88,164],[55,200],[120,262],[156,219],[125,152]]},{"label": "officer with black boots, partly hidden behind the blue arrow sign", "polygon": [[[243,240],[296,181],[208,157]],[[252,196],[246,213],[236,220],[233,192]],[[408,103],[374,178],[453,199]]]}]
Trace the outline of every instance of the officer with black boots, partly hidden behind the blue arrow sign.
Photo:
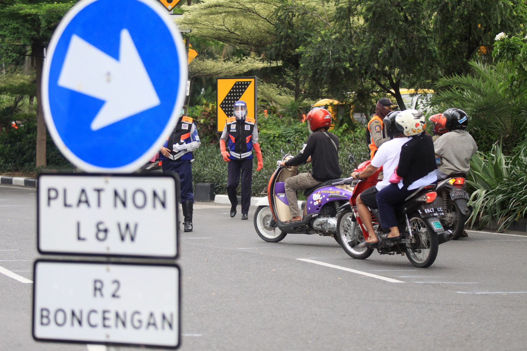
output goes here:
[{"label": "officer with black boots, partly hidden behind the blue arrow sign", "polygon": [[201,142],[192,118],[183,116],[174,131],[161,147],[159,159],[163,162],[163,173],[175,172],[181,180],[181,207],[184,217],[184,231],[192,232],[192,213],[194,210],[194,195],[192,193],[192,152],[200,147]]}]

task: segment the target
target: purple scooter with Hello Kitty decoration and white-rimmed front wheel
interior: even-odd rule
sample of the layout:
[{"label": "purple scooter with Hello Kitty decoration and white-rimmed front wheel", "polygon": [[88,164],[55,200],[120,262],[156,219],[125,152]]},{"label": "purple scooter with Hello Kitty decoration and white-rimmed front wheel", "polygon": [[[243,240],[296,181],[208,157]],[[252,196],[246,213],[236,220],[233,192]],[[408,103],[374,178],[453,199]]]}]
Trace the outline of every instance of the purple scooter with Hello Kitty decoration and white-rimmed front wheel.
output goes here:
[{"label": "purple scooter with Hello Kitty decoration and white-rimmed front wheel", "polygon": [[[282,160],[292,158],[282,152]],[[292,224],[285,223],[291,219],[289,202],[286,197],[285,180],[298,174],[298,167],[282,167],[277,162],[277,169],[272,174],[267,187],[267,199],[257,203],[255,229],[266,242],[278,243],[289,233],[319,234],[333,236],[337,243],[337,218],[340,207],[349,203],[352,197],[352,178],[327,180],[313,188],[305,190],[306,201],[299,202],[302,220]]]}]

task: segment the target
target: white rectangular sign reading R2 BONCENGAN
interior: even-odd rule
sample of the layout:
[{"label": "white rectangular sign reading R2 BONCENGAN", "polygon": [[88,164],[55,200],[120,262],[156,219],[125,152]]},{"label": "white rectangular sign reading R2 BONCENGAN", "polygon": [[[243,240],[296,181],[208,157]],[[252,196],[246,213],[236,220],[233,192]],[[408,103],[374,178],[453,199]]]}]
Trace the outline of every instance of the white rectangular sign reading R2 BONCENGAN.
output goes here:
[{"label": "white rectangular sign reading R2 BONCENGAN", "polygon": [[179,286],[176,265],[37,260],[33,338],[177,348]]}]

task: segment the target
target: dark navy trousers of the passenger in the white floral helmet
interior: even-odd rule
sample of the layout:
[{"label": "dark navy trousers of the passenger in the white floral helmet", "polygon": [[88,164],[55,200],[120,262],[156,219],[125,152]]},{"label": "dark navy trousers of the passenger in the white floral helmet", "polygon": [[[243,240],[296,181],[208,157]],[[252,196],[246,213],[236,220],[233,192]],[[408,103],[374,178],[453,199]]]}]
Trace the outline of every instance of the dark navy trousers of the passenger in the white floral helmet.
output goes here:
[{"label": "dark navy trousers of the passenger in the white floral helmet", "polygon": [[404,202],[404,199],[412,194],[414,190],[406,188],[399,189],[398,184],[390,184],[377,193],[377,207],[380,215],[380,226],[383,232],[388,233],[389,228],[397,226],[397,215],[395,208]]}]

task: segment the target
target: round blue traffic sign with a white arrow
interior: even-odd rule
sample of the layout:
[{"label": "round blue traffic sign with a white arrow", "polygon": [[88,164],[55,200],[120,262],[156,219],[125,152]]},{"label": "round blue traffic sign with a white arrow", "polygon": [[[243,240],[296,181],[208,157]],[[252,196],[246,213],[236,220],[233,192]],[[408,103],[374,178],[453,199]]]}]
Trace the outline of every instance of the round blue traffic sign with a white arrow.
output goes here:
[{"label": "round blue traffic sign with a white arrow", "polygon": [[187,72],[182,37],[157,2],[81,0],[47,48],[42,106],[53,141],[84,171],[135,171],[178,122]]}]

